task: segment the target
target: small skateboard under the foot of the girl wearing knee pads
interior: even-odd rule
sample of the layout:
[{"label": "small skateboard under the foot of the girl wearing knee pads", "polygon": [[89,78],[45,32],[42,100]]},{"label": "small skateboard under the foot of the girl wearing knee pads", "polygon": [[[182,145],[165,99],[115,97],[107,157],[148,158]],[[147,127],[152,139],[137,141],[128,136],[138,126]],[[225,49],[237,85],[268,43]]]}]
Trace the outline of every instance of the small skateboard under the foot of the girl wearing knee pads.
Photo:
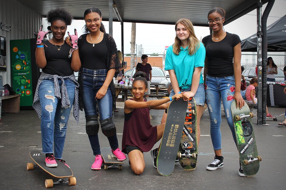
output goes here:
[{"label": "small skateboard under the foot of the girl wearing knee pads", "polygon": [[107,170],[111,166],[116,166],[120,170],[122,169],[122,165],[124,164],[122,161],[118,161],[115,156],[113,156],[110,147],[101,148],[101,156],[104,162],[104,169]]}]

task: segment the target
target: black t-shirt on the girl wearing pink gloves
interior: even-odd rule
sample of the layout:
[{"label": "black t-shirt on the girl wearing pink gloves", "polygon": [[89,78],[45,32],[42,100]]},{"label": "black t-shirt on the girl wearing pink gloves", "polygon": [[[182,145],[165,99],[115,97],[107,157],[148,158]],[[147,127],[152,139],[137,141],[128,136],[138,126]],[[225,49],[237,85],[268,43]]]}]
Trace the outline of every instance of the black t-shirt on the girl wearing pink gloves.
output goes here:
[{"label": "black t-shirt on the girl wearing pink gloves", "polygon": [[[69,76],[74,72],[71,67],[72,58],[69,58],[71,46],[64,43],[61,48],[57,47],[48,40],[43,41],[47,47],[45,48],[45,57],[47,65],[43,68],[43,72],[50,75]],[[60,48],[60,50],[58,50]]]}]

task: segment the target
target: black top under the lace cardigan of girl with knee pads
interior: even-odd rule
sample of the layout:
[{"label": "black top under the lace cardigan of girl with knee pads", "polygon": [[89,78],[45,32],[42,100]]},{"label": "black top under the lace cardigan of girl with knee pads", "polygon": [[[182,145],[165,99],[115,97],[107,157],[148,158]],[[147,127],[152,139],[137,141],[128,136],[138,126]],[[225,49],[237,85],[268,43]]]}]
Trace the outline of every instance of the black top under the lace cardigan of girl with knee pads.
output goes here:
[{"label": "black top under the lace cardigan of girl with knee pads", "polygon": [[[89,38],[89,36],[87,37]],[[104,37],[103,37],[104,38]],[[80,55],[82,57],[82,67],[92,70],[107,69],[107,46],[103,39],[98,44],[89,43],[85,40],[82,42],[82,46],[79,48]]]}]

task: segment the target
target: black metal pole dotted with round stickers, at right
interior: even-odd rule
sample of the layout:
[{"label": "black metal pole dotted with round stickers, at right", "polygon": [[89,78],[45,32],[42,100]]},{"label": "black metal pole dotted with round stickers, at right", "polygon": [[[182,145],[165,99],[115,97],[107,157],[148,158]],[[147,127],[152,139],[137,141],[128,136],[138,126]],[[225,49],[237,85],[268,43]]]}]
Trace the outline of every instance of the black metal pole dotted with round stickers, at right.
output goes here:
[{"label": "black metal pole dotted with round stickers, at right", "polygon": [[261,32],[261,0],[257,0],[257,124],[262,124],[262,32]]}]

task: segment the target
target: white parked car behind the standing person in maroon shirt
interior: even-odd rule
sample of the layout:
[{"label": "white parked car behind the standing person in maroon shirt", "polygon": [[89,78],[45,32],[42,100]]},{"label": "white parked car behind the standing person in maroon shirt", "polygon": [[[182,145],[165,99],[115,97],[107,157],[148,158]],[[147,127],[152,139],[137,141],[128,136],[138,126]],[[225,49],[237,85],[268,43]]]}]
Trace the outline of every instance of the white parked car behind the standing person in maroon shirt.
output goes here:
[{"label": "white parked car behind the standing person in maroon shirt", "polygon": [[[135,74],[136,68],[129,69],[124,72],[125,77],[131,77]],[[165,75],[165,72],[160,67],[152,67],[152,83],[166,84],[166,87],[170,84],[170,78]]]}]

